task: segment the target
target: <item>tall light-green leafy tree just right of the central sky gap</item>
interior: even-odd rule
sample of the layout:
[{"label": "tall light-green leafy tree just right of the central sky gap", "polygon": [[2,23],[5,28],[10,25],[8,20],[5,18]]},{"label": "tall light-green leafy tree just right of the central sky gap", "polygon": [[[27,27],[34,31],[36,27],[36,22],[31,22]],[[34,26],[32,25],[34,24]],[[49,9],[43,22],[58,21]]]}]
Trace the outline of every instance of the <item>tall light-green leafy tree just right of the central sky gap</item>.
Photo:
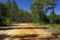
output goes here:
[{"label": "tall light-green leafy tree just right of the central sky gap", "polygon": [[[38,20],[40,23],[43,22],[44,16],[46,16],[45,14],[47,13],[45,12],[45,7],[48,5],[48,2],[48,0],[33,0],[31,10],[33,13],[33,17],[35,18],[35,22],[37,22],[36,20]],[[39,16],[39,18],[37,16]]]}]

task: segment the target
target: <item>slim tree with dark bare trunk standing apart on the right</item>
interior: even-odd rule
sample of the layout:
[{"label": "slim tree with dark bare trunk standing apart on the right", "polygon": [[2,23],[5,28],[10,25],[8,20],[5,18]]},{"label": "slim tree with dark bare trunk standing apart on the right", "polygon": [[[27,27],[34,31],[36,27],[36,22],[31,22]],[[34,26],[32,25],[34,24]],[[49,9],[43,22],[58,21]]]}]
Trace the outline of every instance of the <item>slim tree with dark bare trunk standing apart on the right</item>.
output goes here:
[{"label": "slim tree with dark bare trunk standing apart on the right", "polygon": [[54,23],[54,20],[55,20],[54,8],[55,8],[55,5],[56,5],[56,2],[55,2],[55,0],[50,0],[50,2],[48,4],[49,4],[49,7],[47,9],[52,10],[51,13],[50,13],[50,16],[51,16],[51,22],[50,23]]}]

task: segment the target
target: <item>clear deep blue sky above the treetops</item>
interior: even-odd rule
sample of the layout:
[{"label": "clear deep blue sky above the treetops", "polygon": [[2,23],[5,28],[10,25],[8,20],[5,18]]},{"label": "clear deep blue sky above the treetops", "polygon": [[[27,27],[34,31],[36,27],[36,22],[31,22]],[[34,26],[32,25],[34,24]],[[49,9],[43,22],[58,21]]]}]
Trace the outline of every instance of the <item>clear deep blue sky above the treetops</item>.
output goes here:
[{"label": "clear deep blue sky above the treetops", "polygon": [[[7,0],[0,0],[0,2],[6,3]],[[32,0],[15,0],[18,7],[20,9],[26,10],[30,12],[30,6],[32,4]],[[56,8],[55,8],[55,13],[60,15],[60,0],[56,0]]]}]

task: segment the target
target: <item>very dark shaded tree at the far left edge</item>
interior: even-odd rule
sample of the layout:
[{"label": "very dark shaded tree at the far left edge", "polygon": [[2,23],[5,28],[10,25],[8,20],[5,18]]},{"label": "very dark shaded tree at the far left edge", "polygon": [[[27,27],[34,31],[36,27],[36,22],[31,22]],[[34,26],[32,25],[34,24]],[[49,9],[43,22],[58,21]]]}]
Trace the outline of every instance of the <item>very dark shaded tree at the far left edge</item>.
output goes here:
[{"label": "very dark shaded tree at the far left edge", "polygon": [[7,18],[8,8],[5,4],[0,3],[0,25],[6,25],[4,20]]}]

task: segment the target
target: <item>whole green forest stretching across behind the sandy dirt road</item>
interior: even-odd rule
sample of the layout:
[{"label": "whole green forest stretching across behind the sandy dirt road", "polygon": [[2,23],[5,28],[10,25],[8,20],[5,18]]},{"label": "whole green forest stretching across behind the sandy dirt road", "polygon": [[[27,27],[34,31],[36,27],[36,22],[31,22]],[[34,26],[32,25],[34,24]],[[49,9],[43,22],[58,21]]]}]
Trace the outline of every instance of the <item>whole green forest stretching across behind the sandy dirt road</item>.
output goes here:
[{"label": "whole green forest stretching across behind the sandy dirt road", "polygon": [[[33,0],[28,12],[19,9],[15,0],[0,2],[0,26],[14,23],[39,23],[60,29],[60,15],[55,13],[56,0]],[[50,14],[48,14],[50,11]]]}]

